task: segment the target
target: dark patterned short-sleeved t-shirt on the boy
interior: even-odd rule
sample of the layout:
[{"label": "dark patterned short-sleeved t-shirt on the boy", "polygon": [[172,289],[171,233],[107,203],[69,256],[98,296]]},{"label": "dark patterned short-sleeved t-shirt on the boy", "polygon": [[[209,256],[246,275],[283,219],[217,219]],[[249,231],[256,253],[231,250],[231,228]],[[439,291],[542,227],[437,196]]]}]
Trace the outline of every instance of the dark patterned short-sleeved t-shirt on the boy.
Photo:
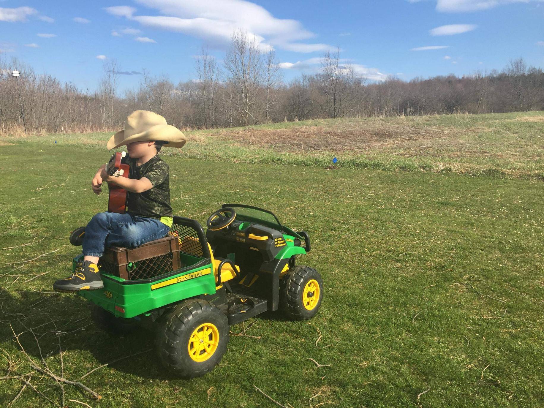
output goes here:
[{"label": "dark patterned short-sleeved t-shirt on the boy", "polygon": [[170,206],[169,171],[170,168],[158,154],[141,166],[136,159],[128,157],[130,178],[139,180],[146,177],[153,188],[143,193],[128,193],[127,213],[159,219],[169,227],[172,226],[172,207]]}]

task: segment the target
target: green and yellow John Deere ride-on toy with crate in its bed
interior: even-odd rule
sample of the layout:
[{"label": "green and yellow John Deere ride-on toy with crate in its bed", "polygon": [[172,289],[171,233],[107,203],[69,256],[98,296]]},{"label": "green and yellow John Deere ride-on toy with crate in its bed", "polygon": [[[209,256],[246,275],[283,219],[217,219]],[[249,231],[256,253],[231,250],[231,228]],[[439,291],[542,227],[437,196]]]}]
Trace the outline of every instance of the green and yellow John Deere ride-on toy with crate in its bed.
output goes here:
[{"label": "green and yellow John Deere ride-on toy with crate in its bed", "polygon": [[206,234],[196,220],[174,217],[164,238],[108,248],[98,265],[104,288],[79,295],[104,330],[153,329],[164,367],[194,378],[219,363],[230,325],[265,311],[291,319],[316,314],[321,276],[295,265],[308,251],[308,234],[281,225],[270,211],[226,204],[210,215]]}]

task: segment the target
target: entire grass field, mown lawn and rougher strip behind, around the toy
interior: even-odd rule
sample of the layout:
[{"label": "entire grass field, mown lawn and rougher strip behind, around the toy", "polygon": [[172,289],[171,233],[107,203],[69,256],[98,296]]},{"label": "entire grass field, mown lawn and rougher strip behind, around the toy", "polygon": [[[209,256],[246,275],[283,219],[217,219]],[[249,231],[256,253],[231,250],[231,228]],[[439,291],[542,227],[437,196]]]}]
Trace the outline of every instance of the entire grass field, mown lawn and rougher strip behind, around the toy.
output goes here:
[{"label": "entire grass field, mown lawn and rougher strip behind, around the toy", "polygon": [[[190,132],[183,153],[165,155],[175,214],[204,222],[224,202],[270,209],[285,225],[310,232],[312,251],[298,262],[318,269],[325,286],[310,322],[276,313],[251,319],[247,333],[260,338],[232,336],[219,366],[190,381],[172,378],[145,351],[150,333],[108,337],[83,299],[52,292],[78,254],[67,234],[106,209],[107,195],[93,195],[90,178],[109,158],[108,135],[0,139],[0,377],[14,375],[8,367],[32,371],[13,327],[36,362],[41,353],[54,373],[101,395],[96,400],[66,384],[70,407],[84,406],[70,400],[92,407],[279,406],[255,387],[296,408],[542,406],[542,117]],[[349,133],[349,126],[359,131]],[[387,139],[378,128],[400,133]],[[327,132],[339,140],[335,150],[315,151]],[[435,140],[433,132],[443,137]],[[302,141],[297,147],[294,140]],[[332,155],[338,166],[330,166]],[[403,169],[414,171],[395,171]],[[27,386],[13,406],[61,404],[54,381],[36,372],[30,382],[51,402]],[[22,384],[0,380],[0,406]]]}]

